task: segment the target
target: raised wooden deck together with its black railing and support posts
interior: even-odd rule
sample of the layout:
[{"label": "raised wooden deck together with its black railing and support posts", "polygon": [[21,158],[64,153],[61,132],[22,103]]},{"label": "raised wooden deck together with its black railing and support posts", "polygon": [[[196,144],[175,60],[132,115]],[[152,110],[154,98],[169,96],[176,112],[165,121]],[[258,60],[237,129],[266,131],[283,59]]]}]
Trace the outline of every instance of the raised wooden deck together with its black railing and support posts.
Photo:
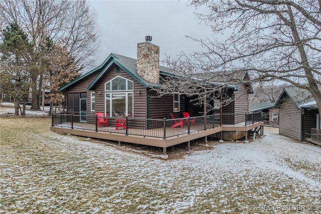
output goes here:
[{"label": "raised wooden deck together with its black railing and support posts", "polygon": [[[106,119],[107,127],[98,127],[97,116],[79,116],[71,114],[54,114],[52,117],[51,131],[71,134],[83,137],[113,140],[148,146],[166,148],[188,143],[198,138],[221,133],[224,131],[244,132],[247,141],[248,131],[261,128],[263,134],[263,122],[260,113],[252,114],[214,114],[211,116],[200,116],[178,119],[141,119],[141,118],[122,118],[125,120],[125,127],[116,129],[116,120],[120,118],[103,117]],[[190,121],[194,123],[190,123]],[[173,126],[177,122],[183,122],[181,126]]]}]

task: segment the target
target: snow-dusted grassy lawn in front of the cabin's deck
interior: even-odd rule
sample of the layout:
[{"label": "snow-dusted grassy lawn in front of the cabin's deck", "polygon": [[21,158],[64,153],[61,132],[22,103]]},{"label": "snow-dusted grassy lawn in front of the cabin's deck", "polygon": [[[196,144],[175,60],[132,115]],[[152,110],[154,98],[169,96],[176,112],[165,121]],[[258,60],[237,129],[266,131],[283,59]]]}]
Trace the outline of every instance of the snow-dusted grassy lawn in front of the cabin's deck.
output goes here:
[{"label": "snow-dusted grassy lawn in front of the cabin's deck", "polygon": [[177,160],[35,127],[26,133],[2,133],[0,213],[321,212],[321,147],[276,128]]}]

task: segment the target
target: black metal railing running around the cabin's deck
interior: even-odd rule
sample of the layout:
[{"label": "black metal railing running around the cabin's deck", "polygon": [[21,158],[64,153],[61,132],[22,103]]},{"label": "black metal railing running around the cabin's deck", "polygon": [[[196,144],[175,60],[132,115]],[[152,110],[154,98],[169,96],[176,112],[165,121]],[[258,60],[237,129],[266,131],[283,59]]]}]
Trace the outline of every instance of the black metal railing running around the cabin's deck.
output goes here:
[{"label": "black metal railing running around the cabin's deck", "polygon": [[[144,119],[100,117],[107,120],[107,126],[98,127],[97,116],[73,114],[53,114],[52,127],[91,130],[96,132],[119,133],[167,139],[169,137],[191,134],[220,126],[246,126],[260,121],[260,113],[251,114],[214,114],[177,118],[177,119]],[[126,128],[116,129],[116,120],[125,120]],[[182,127],[181,127],[182,126]]]}]

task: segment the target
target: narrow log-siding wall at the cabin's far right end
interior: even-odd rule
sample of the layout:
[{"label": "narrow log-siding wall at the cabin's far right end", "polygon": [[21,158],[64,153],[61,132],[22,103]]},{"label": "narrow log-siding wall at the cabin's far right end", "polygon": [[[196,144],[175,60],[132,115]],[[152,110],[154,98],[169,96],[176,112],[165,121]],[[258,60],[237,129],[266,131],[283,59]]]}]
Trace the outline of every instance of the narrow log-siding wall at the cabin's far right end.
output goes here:
[{"label": "narrow log-siding wall at the cabin's far right end", "polygon": [[249,92],[246,84],[241,84],[237,91],[234,91],[234,113],[243,114],[249,112]]}]

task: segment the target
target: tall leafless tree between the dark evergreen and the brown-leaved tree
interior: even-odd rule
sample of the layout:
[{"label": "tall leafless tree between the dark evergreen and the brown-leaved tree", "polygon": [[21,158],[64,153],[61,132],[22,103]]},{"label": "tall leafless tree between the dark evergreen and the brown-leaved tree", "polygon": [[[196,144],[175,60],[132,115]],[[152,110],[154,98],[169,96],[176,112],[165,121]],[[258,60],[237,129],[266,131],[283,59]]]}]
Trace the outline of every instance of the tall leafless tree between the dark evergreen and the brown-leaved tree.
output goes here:
[{"label": "tall leafless tree between the dark evergreen and the brown-leaved tree", "polygon": [[[55,0],[0,1],[0,27],[18,23],[34,44],[29,63],[32,79],[32,109],[40,109],[40,97],[46,66],[41,63],[46,38],[62,44],[74,58],[77,70],[91,65],[99,46],[96,14],[88,2]],[[2,38],[0,30],[0,37]]]}]

